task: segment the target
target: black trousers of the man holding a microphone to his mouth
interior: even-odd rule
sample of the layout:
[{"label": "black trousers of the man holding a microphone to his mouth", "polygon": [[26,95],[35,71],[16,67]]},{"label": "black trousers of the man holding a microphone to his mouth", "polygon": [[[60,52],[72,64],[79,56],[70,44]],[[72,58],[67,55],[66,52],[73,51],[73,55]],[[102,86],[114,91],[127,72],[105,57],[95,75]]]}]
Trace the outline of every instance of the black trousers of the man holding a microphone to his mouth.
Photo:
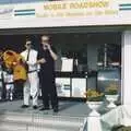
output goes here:
[{"label": "black trousers of the man holding a microphone to his mouth", "polygon": [[58,107],[55,78],[41,76],[41,98],[44,107],[49,107],[49,100],[51,100],[52,108]]}]

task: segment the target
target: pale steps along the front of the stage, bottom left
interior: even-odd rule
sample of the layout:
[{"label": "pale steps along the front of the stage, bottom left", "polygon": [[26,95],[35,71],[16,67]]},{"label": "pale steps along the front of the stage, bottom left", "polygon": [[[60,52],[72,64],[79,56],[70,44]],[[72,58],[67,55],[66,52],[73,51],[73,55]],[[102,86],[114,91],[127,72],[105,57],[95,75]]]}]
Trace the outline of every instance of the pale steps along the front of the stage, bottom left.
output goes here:
[{"label": "pale steps along the front of the stage, bottom left", "polygon": [[0,115],[0,131],[80,131],[83,118],[7,112]]}]

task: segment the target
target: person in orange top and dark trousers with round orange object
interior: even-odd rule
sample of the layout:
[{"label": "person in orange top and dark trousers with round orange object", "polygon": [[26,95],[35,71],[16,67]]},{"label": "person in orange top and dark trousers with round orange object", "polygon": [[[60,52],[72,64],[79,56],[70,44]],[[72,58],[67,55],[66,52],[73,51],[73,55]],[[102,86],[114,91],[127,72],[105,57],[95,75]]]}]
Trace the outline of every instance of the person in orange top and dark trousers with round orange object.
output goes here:
[{"label": "person in orange top and dark trousers with round orange object", "polygon": [[4,70],[13,74],[14,98],[21,99],[23,97],[23,85],[27,79],[24,59],[13,50],[5,50],[3,52],[3,64]]}]

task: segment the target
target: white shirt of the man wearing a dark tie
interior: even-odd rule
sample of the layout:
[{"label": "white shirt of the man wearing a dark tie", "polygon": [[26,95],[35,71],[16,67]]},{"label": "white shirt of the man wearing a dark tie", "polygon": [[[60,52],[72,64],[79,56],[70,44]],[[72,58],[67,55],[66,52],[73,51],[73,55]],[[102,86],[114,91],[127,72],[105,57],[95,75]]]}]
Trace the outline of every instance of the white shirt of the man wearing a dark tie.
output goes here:
[{"label": "white shirt of the man wearing a dark tie", "polygon": [[[21,55],[26,60],[27,55],[28,55],[28,50],[25,50],[25,51],[21,52]],[[37,55],[38,55],[38,51],[36,51],[35,49],[29,50],[29,56],[28,56],[28,61],[27,61],[28,71],[35,71],[35,70],[39,69],[39,66],[36,64]]]}]

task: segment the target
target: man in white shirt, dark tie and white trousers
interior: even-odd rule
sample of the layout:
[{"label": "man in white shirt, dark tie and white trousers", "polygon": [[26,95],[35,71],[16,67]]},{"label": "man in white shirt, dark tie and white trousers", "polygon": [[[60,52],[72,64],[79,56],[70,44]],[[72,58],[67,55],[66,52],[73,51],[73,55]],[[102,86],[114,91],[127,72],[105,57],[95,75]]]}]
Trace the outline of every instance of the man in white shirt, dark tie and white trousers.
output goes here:
[{"label": "man in white shirt, dark tie and white trousers", "polygon": [[25,44],[26,50],[21,55],[25,59],[28,66],[27,80],[24,85],[24,105],[22,108],[29,107],[29,97],[33,98],[33,108],[37,109],[38,105],[38,88],[39,88],[39,78],[38,78],[38,64],[37,55],[38,52],[32,48],[31,39],[26,39]]}]

